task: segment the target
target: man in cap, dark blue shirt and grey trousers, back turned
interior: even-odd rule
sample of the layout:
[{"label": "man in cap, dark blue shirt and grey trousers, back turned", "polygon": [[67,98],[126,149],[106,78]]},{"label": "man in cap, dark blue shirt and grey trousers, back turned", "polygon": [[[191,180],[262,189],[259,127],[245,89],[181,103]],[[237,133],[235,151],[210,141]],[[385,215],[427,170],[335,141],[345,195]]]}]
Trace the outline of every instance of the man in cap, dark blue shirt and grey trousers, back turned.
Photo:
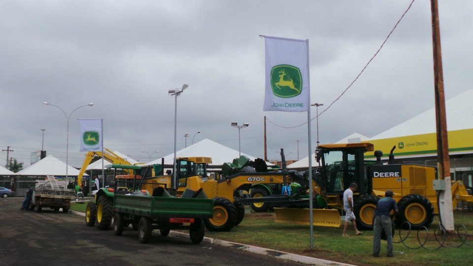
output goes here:
[{"label": "man in cap, dark blue shirt and grey trousers, back turned", "polygon": [[381,233],[384,230],[386,233],[386,241],[388,242],[387,256],[393,256],[393,235],[392,235],[392,219],[391,210],[394,210],[394,215],[398,214],[398,204],[393,199],[393,192],[386,190],[385,197],[378,200],[376,203],[376,210],[373,217],[373,257],[379,257],[379,250],[381,249]]}]

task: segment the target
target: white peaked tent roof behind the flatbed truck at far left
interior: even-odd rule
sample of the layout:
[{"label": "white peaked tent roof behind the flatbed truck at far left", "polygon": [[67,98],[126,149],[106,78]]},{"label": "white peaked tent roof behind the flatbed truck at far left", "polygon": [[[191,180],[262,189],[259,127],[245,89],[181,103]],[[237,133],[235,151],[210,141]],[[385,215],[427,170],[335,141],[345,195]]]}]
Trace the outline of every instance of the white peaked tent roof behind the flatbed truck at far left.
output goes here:
[{"label": "white peaked tent roof behind the flatbed truck at far left", "polygon": [[[66,176],[66,164],[56,159],[52,155],[41,159],[39,162],[26,167],[25,169],[17,172],[17,175],[29,175],[29,176],[43,176],[52,174],[55,176]],[[68,176],[79,175],[79,170],[72,166],[68,166]],[[86,175],[86,174],[84,174]]]}]

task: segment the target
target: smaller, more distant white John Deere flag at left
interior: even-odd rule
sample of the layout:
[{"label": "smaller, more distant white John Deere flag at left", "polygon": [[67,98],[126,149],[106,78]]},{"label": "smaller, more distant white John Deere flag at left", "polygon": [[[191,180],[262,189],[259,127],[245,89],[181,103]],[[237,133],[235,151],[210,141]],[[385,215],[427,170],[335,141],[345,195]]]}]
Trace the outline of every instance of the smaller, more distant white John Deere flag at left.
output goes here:
[{"label": "smaller, more distant white John Deere flag at left", "polygon": [[100,151],[102,148],[102,119],[78,119],[80,151]]}]

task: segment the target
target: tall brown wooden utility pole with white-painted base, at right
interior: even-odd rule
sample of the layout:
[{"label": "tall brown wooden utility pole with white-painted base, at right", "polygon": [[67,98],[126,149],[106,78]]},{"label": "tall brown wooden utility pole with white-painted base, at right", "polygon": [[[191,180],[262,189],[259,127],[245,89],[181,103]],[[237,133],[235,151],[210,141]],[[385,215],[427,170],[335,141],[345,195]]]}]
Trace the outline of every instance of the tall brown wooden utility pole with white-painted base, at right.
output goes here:
[{"label": "tall brown wooden utility pole with white-painted base, at right", "polygon": [[440,47],[439,6],[437,0],[431,0],[431,8],[432,41],[434,47],[435,114],[437,125],[437,165],[439,167],[439,179],[443,179],[445,182],[445,190],[439,191],[439,212],[441,223],[445,230],[454,231],[450,157],[448,155],[447,119],[443,90],[442,50]]}]

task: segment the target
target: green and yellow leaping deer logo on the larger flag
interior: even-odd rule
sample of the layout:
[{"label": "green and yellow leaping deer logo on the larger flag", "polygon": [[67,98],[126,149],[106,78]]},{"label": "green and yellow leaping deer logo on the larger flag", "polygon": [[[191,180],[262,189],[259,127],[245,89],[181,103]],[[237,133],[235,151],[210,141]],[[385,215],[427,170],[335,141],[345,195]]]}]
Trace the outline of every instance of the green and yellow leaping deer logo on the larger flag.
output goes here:
[{"label": "green and yellow leaping deer logo on the larger flag", "polygon": [[281,98],[291,98],[301,94],[301,70],[295,66],[278,65],[271,69],[272,93]]}]

